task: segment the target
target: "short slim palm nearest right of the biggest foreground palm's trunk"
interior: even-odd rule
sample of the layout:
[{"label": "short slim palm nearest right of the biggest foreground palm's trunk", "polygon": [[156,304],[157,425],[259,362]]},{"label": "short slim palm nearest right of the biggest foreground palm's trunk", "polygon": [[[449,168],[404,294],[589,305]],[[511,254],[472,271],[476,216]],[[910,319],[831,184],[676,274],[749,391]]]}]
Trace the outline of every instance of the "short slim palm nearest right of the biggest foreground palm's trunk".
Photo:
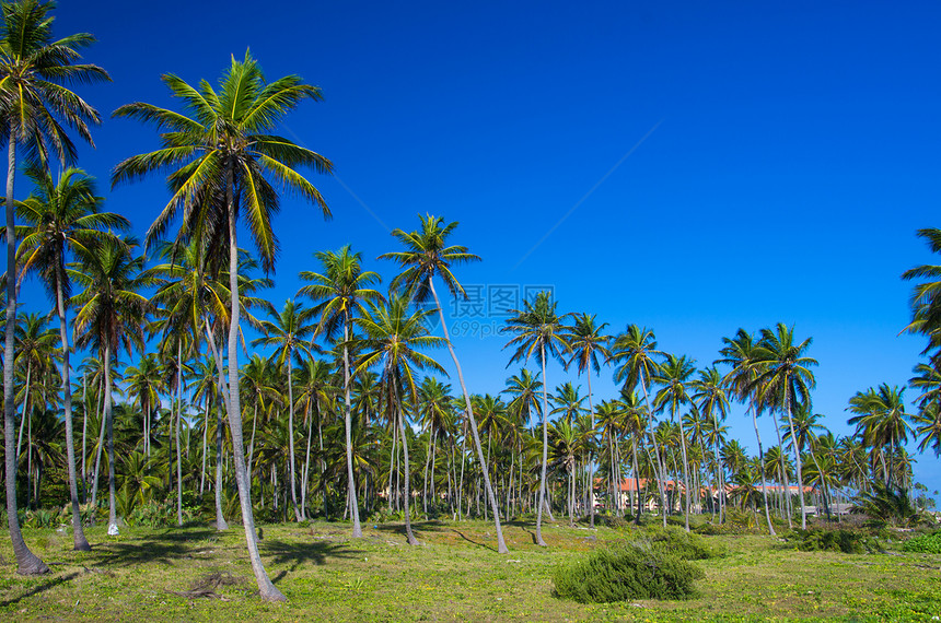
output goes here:
[{"label": "short slim palm nearest right of the biggest foreground palm's trunk", "polygon": [[294,475],[294,368],[292,360],[303,362],[302,355],[311,356],[311,350],[306,345],[309,338],[314,332],[314,326],[310,324],[313,317],[312,309],[304,309],[303,305],[294,303],[290,298],[284,302],[284,307],[279,313],[271,313],[271,320],[262,321],[262,330],[265,336],[254,340],[253,345],[263,344],[276,346],[275,352],[279,367],[288,366],[288,487],[291,492],[291,504],[294,507],[294,519],[302,521],[303,512],[298,507],[298,486]]}]

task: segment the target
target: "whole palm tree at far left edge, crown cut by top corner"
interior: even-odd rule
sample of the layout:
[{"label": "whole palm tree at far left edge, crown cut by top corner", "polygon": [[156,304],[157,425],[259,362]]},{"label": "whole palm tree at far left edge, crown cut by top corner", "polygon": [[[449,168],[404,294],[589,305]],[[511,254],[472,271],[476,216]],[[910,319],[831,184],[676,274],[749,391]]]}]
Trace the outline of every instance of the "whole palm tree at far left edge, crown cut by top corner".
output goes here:
[{"label": "whole palm tree at far left edge, crown cut by top corner", "polygon": [[[7,141],[7,326],[16,324],[16,237],[13,183],[16,176],[16,146],[26,150],[31,162],[48,164],[48,152],[70,163],[75,148],[66,128],[92,143],[89,124],[98,124],[97,111],[68,89],[73,83],[109,80],[94,64],[74,63],[79,50],[94,43],[88,33],[54,40],[49,15],[55,4],[38,0],[3,2],[0,24],[0,137]],[[13,331],[7,332],[3,355],[4,426],[12,431],[13,403]],[[13,436],[5,439],[7,521],[18,571],[43,574],[49,571],[23,541],[16,518],[16,463]],[[73,465],[73,463],[72,463]],[[73,479],[74,482],[74,479]],[[74,521],[74,519],[73,519]],[[73,530],[74,533],[74,530]],[[77,545],[84,546],[78,537]]]}]

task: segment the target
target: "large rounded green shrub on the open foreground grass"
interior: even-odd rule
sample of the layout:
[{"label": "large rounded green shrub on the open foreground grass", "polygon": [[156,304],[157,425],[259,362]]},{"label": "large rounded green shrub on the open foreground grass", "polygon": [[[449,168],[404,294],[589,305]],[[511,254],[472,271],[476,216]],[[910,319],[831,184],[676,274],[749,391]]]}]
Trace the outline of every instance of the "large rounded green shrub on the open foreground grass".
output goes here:
[{"label": "large rounded green shrub on the open foreground grass", "polygon": [[581,603],[627,599],[686,599],[702,572],[661,548],[623,543],[560,566],[553,577],[556,595]]}]

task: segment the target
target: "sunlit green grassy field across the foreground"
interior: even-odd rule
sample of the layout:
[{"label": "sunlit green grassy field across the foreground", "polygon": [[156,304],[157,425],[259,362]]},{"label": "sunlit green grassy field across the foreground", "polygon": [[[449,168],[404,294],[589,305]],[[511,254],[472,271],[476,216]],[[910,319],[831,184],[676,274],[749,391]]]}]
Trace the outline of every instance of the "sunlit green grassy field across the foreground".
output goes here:
[{"label": "sunlit green grassy field across the foreground", "polygon": [[[88,530],[91,553],[71,551],[67,530],[27,530],[50,564],[42,577],[15,574],[9,538],[0,542],[0,620],[106,621],[938,621],[941,556],[800,552],[767,537],[707,537],[723,557],[698,561],[706,577],[687,601],[583,606],[553,596],[556,566],[631,528],[510,522],[509,555],[495,551],[481,521],[418,522],[420,546],[400,525],[264,526],[266,568],[287,604],[255,593],[241,528]],[[187,593],[187,591],[189,591]],[[205,597],[196,597],[204,593]]]}]

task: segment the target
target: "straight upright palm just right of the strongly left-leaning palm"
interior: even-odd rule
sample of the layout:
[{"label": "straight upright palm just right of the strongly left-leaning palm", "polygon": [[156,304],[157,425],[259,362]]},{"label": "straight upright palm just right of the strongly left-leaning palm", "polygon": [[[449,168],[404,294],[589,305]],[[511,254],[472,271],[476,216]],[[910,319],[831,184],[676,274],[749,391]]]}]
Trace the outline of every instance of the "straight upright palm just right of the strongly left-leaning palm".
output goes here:
[{"label": "straight upright palm just right of the strongly left-leaning palm", "polygon": [[[569,345],[569,328],[564,325],[568,314],[559,316],[556,312],[556,302],[549,299],[548,292],[539,292],[533,302],[524,301],[523,309],[513,309],[516,316],[507,319],[503,331],[515,333],[515,337],[503,346],[516,346],[513,356],[510,357],[509,367],[518,361],[526,362],[530,356],[535,356],[543,367],[543,378],[546,378],[546,357],[551,356],[561,360],[565,354],[571,352]],[[548,413],[549,399],[546,385],[543,385],[543,466],[539,477],[539,506],[536,510],[536,543],[546,546],[543,540],[543,506],[546,504],[546,465],[548,461]]]}]

